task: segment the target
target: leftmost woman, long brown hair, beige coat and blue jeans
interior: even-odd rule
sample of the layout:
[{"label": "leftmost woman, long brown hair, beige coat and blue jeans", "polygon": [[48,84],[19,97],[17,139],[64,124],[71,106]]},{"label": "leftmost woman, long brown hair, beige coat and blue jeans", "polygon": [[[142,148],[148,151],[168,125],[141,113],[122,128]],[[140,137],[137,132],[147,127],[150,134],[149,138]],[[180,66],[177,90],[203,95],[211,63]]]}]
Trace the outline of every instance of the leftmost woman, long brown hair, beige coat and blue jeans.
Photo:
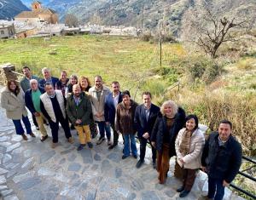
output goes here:
[{"label": "leftmost woman, long brown hair, beige coat and blue jeans", "polygon": [[[13,120],[16,134],[20,134],[23,140],[27,140],[26,134],[36,137],[32,133],[31,124],[27,117],[25,108],[24,93],[15,80],[10,80],[1,94],[1,106],[6,110],[6,116]],[[26,134],[21,125],[21,120],[25,124]]]}]

